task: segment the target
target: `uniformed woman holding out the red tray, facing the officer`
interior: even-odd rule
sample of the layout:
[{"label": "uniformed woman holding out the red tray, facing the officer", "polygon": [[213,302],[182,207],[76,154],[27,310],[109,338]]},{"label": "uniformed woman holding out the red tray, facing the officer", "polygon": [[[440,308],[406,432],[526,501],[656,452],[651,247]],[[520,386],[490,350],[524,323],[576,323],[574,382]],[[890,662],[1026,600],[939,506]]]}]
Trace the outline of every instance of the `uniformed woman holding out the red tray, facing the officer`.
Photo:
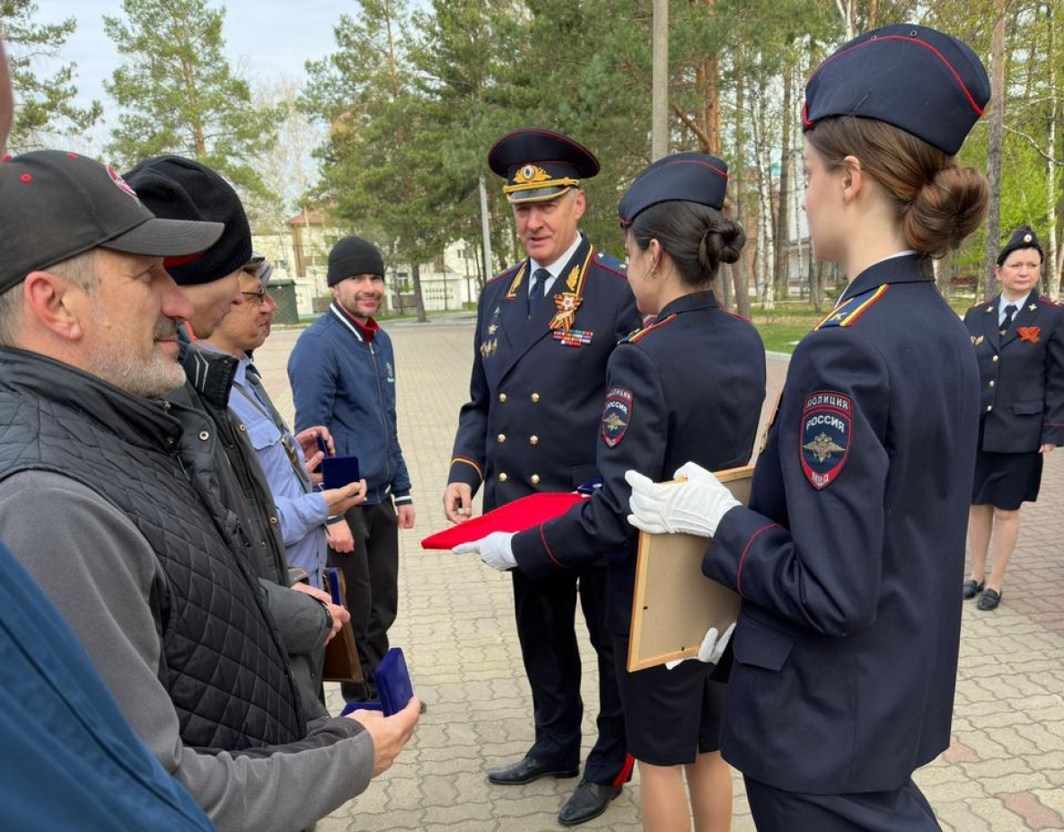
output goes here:
[{"label": "uniformed woman holding out the red tray, facing the officer", "polygon": [[696,828],[731,825],[731,775],[719,753],[724,685],[709,680],[701,662],[626,670],[637,535],[626,519],[625,471],[660,480],[687,460],[712,470],[745,465],[765,397],[757,330],[721,310],[710,288],[720,264],[734,263],[746,242],[720,213],[727,171],[703,153],[666,156],[620,202],[629,284],[639,312],[656,322],[610,356],[597,453],[601,489],[561,518],[455,549],[533,579],[609,558],[625,731],[639,762],[644,828],[651,830],[691,829],[684,768]]}]

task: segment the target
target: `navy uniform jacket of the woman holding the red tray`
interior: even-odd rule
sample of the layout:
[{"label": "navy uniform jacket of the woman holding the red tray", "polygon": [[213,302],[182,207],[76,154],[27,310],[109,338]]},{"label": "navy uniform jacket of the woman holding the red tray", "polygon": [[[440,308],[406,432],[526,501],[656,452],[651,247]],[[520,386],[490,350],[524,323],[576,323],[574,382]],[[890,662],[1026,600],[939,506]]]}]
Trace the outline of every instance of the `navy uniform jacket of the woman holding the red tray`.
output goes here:
[{"label": "navy uniform jacket of the woman holding the red tray", "polygon": [[598,436],[602,487],[564,516],[521,532],[514,556],[546,578],[610,556],[610,626],[631,627],[637,531],[628,523],[625,471],[655,482],[685,462],[709,470],[746,465],[765,398],[765,348],[758,331],[717,305],[712,292],[686,295],[610,357]]}]

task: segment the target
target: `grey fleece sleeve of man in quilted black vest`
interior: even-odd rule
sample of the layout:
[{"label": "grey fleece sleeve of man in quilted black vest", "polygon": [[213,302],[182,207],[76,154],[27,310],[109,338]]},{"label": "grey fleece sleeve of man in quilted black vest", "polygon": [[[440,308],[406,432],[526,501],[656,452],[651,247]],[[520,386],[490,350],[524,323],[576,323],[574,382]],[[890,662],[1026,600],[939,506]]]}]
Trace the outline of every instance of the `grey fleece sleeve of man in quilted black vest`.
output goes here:
[{"label": "grey fleece sleeve of man in quilted black vest", "polygon": [[373,743],[351,719],[246,754],[182,744],[159,681],[149,604],[161,568],[136,527],[98,494],[56,473],[14,475],[0,482],[0,539],[78,634],[136,734],[219,830],[297,832],[365,791]]}]

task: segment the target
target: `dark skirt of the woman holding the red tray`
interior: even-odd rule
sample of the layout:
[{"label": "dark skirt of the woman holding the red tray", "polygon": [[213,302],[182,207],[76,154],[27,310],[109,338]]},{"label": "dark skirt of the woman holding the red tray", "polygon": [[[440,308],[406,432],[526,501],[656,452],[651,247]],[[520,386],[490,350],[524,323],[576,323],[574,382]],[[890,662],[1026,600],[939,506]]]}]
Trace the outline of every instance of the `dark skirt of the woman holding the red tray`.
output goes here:
[{"label": "dark skirt of the woman holding the red tray", "polygon": [[653,766],[695,762],[720,750],[720,717],[728,687],[710,681],[712,665],[697,659],[628,672],[628,638],[614,636],[628,753]]}]

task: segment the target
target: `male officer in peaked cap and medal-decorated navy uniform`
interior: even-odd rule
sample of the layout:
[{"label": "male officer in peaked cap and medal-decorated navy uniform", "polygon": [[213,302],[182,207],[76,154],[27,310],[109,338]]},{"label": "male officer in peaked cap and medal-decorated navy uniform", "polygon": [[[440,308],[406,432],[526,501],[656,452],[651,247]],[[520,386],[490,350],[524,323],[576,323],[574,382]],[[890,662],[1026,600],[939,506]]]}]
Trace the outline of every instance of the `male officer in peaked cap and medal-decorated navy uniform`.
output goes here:
[{"label": "male officer in peaked cap and medal-decorated navy uniform", "polygon": [[[484,510],[535,492],[568,492],[598,476],[606,362],[641,325],[624,266],[577,230],[580,181],[599,164],[589,150],[546,130],[522,129],[492,147],[488,166],[506,180],[528,259],[481,294],[470,401],[462,407],[444,496],[447,517],[469,516],[483,484]],[[500,785],[580,770],[580,654],[577,594],[598,654],[598,741],[562,823],[605,809],[631,775],[611,638],[604,561],[544,580],[512,572],[517,633],[535,710],[535,743],[520,761],[488,775]]]}]

